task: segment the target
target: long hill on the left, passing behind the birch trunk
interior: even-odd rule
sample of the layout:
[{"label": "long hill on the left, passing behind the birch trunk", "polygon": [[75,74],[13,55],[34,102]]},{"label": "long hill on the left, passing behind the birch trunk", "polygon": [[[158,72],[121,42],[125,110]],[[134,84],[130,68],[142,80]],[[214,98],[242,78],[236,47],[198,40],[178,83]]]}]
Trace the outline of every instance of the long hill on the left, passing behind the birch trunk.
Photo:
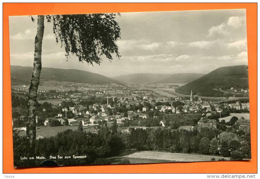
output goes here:
[{"label": "long hill on the left, passing behind the birch trunk", "polygon": [[[31,82],[32,72],[33,67],[11,66],[11,82],[28,84]],[[100,74],[74,69],[42,68],[40,78],[44,80],[79,82],[88,84],[115,83],[123,85],[121,82]]]}]

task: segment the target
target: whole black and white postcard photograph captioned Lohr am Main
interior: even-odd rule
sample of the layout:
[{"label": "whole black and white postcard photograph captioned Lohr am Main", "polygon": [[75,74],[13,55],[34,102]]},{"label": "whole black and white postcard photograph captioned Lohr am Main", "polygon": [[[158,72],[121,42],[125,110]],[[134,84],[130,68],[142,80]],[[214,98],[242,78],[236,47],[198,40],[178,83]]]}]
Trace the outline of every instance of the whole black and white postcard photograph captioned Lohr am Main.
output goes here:
[{"label": "whole black and white postcard photograph captioned Lohr am Main", "polygon": [[251,160],[245,9],[9,16],[9,40],[14,167]]}]

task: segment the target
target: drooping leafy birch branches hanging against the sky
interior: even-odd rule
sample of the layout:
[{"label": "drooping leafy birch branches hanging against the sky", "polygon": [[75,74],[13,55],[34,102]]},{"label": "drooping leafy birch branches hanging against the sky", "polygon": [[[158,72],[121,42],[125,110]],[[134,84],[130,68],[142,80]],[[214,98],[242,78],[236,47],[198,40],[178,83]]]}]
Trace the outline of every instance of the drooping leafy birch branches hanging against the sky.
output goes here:
[{"label": "drooping leafy birch branches hanging against the sky", "polygon": [[53,23],[56,42],[66,51],[66,57],[76,55],[80,62],[100,64],[101,56],[112,60],[120,54],[115,41],[120,38],[120,27],[115,20],[119,13],[46,15]]}]

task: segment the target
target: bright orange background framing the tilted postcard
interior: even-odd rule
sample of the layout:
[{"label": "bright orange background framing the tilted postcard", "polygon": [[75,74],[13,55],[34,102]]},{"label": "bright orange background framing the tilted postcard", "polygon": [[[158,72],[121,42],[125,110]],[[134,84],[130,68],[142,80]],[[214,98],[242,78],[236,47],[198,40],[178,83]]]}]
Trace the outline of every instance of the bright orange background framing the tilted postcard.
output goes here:
[{"label": "bright orange background framing the tilted postcard", "polygon": [[[13,168],[9,25],[11,15],[247,9],[251,161]],[[257,3],[3,3],[3,173],[257,173]]]}]

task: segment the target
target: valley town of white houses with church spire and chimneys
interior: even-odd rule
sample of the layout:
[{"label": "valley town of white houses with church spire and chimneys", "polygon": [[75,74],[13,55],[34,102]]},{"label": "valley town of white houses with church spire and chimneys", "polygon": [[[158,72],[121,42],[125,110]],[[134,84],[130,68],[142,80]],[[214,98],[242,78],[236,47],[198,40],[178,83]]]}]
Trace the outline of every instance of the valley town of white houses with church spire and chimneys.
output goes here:
[{"label": "valley town of white houses with church spire and chimneys", "polygon": [[[172,132],[196,131],[200,135],[207,132],[204,135],[209,145],[206,152],[191,146],[189,149],[180,147],[183,153],[197,150],[202,154],[228,157],[232,149],[228,150],[229,154],[221,154],[222,143],[228,146],[234,142],[239,146],[250,143],[248,98],[213,100],[192,95],[192,91],[190,96],[169,97],[153,91],[157,85],[149,89],[141,85],[92,85],[86,89],[77,85],[79,84],[69,84],[69,91],[38,90],[38,101],[42,103],[38,103],[36,112],[36,139],[56,136],[66,129],[77,130],[78,126],[82,126],[83,131],[99,133],[104,124],[112,130],[111,127],[116,122],[117,130],[128,136],[139,129],[155,132],[158,129]],[[26,135],[25,88],[26,85],[12,88],[13,129],[19,131],[20,136]],[[210,152],[210,146],[215,143],[215,151]],[[152,150],[156,148],[153,147]],[[180,152],[173,149],[169,151]],[[248,151],[245,155],[250,157]]]}]

